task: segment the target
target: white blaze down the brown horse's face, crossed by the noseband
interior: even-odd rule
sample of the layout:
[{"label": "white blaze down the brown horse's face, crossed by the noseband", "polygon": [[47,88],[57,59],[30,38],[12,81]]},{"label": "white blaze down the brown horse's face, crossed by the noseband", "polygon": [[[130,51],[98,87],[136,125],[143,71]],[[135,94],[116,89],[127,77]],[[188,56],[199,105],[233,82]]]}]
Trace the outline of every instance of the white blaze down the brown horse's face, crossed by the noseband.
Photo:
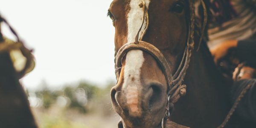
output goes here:
[{"label": "white blaze down the brown horse's face, crossed by the noseband", "polygon": [[[130,1],[130,11],[127,17],[128,24],[128,43],[135,41],[135,36],[140,29],[143,22],[143,8],[140,8],[139,4],[141,0]],[[150,3],[150,0],[145,0],[146,6]],[[140,31],[140,35],[145,30],[146,21]],[[140,36],[139,36],[140,37]],[[144,62],[143,52],[141,50],[131,50],[126,55],[125,70],[124,70],[124,90],[126,92],[127,104],[129,105],[129,111],[131,115],[140,115],[141,111],[139,104],[139,92],[138,86],[140,85],[140,68]]]}]

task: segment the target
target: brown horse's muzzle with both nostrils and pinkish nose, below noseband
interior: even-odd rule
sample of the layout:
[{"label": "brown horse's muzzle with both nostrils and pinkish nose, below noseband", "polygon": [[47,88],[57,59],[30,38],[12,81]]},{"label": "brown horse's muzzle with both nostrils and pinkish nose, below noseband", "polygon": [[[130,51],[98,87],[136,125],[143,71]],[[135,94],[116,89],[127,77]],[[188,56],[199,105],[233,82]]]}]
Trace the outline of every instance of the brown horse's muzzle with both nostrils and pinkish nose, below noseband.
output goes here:
[{"label": "brown horse's muzzle with both nostrils and pinkish nose, below noseband", "polygon": [[[113,108],[122,117],[125,128],[157,128],[165,114],[167,97],[158,82],[142,84],[143,88],[128,86],[111,90]],[[166,98],[163,98],[166,97]]]}]

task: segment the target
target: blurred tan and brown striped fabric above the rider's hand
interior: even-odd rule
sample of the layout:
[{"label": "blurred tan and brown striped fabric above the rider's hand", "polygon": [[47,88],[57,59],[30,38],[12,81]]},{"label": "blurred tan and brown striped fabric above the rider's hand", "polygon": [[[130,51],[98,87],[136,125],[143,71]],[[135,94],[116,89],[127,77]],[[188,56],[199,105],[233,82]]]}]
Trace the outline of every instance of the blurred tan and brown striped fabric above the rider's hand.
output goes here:
[{"label": "blurred tan and brown striped fabric above the rider's hand", "polygon": [[226,40],[256,38],[256,0],[230,0],[230,4],[237,16],[208,30],[210,48]]}]

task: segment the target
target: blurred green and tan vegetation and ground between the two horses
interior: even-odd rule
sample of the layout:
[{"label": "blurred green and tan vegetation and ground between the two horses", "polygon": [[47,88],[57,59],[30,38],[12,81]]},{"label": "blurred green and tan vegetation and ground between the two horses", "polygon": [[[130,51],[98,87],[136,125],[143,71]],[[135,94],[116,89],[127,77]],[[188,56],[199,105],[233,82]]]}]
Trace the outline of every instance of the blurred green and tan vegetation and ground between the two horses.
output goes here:
[{"label": "blurred green and tan vegetation and ground between the two horses", "polygon": [[80,81],[51,89],[43,81],[38,90],[27,90],[40,128],[116,128],[119,116],[113,111],[110,90]]}]

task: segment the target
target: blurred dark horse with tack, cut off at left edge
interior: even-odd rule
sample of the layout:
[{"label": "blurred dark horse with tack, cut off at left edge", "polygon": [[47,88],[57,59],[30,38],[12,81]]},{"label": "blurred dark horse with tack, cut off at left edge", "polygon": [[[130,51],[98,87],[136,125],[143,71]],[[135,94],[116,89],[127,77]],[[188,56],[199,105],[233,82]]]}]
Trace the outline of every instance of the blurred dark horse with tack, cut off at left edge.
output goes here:
[{"label": "blurred dark horse with tack, cut off at left edge", "polygon": [[[0,17],[0,21],[2,20],[5,21]],[[37,128],[26,93],[19,82],[20,77],[32,65],[27,63],[24,68],[26,70],[18,73],[10,58],[11,49],[20,49],[25,56],[30,53],[20,43],[6,44],[6,39],[0,32],[0,128]],[[29,60],[27,58],[28,62]]]}]

